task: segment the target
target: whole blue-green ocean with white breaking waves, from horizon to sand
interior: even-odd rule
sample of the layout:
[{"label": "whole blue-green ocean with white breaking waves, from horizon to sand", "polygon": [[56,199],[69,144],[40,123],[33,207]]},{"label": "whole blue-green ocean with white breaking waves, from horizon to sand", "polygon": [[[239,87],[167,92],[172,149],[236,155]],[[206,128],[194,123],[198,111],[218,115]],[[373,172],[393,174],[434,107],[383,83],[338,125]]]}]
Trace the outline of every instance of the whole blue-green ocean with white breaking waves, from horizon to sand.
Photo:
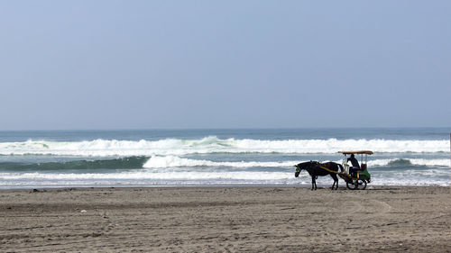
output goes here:
[{"label": "whole blue-green ocean with white breaking waves, from horizon to sand", "polygon": [[[449,185],[451,128],[0,131],[0,188],[310,185],[294,165],[373,150],[371,185]],[[360,158],[360,156],[359,156]],[[330,176],[318,185],[332,185]],[[340,179],[340,185],[345,182]]]}]

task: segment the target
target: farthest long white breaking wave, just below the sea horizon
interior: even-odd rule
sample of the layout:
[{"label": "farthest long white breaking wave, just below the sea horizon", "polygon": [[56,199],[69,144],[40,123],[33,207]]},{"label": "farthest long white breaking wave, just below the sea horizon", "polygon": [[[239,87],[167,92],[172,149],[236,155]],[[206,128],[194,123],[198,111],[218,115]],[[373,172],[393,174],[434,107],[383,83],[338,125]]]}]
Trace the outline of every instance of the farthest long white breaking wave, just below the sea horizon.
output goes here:
[{"label": "farthest long white breaking wave, just below the sea horizon", "polygon": [[215,136],[198,140],[87,140],[0,142],[0,155],[57,155],[81,157],[182,156],[208,153],[336,153],[345,149],[375,152],[448,152],[448,140],[235,140]]}]

